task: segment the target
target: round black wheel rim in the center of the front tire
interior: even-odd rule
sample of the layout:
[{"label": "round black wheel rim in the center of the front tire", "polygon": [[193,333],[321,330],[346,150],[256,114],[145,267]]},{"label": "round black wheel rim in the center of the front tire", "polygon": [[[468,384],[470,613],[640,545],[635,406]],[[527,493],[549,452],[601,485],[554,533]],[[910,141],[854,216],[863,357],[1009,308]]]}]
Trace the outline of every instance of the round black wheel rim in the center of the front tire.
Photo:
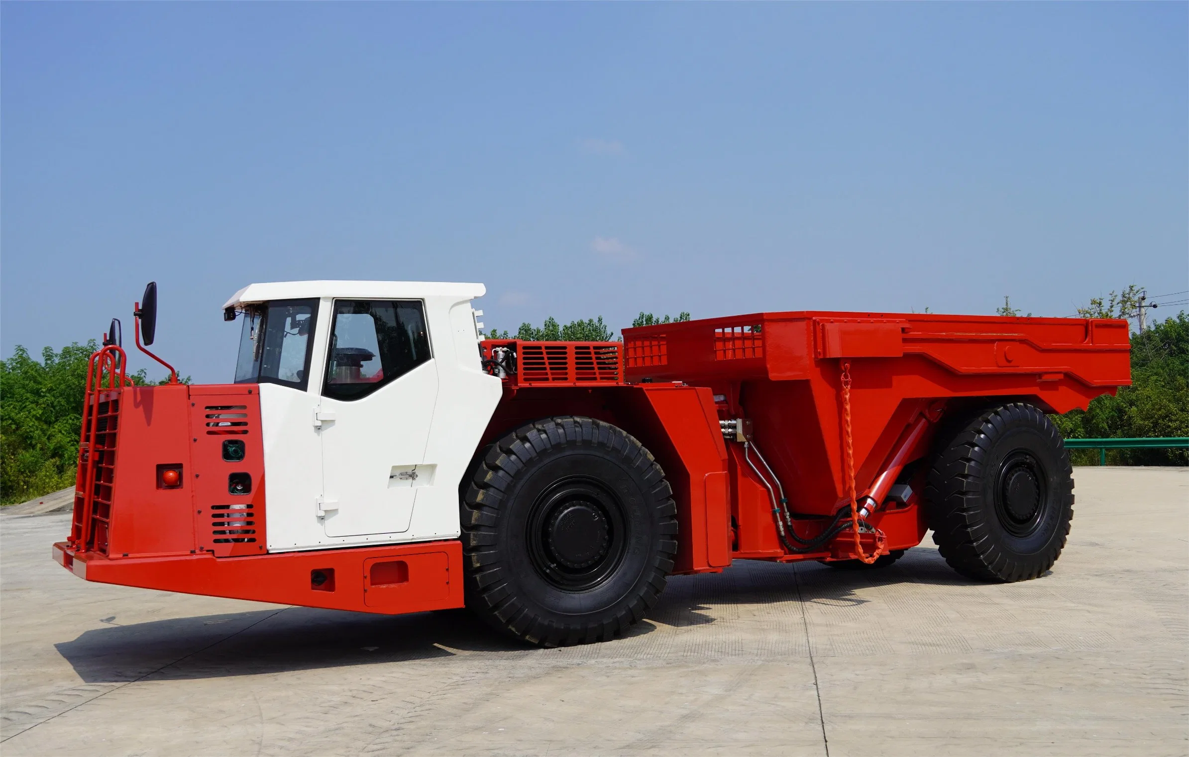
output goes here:
[{"label": "round black wheel rim in the center of the front tire", "polygon": [[623,561],[623,503],[600,482],[555,481],[533,503],[527,523],[529,559],[547,582],[567,592],[596,588]]}]

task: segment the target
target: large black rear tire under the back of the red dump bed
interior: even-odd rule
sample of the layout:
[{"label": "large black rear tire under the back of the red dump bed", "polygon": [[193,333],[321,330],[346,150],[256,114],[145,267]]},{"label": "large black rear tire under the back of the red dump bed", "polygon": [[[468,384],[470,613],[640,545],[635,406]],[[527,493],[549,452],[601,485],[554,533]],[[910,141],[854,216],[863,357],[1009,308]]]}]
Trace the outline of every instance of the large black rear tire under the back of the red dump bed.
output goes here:
[{"label": "large black rear tire under the back of the red dump bed", "polygon": [[993,408],[937,452],[925,506],[933,542],[962,575],[1034,579],[1052,567],[1069,536],[1069,452],[1039,408]]}]

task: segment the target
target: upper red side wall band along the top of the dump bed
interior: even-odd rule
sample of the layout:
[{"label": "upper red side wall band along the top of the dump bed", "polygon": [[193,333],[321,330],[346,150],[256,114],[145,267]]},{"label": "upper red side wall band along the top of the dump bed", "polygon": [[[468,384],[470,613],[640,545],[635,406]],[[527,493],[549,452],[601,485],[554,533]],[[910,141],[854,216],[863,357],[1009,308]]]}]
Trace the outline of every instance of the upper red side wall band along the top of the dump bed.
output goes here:
[{"label": "upper red side wall band along the top of the dump bed", "polygon": [[631,383],[810,379],[839,359],[910,355],[968,379],[948,387],[961,393],[1050,391],[1039,385],[1068,379],[1051,396],[1058,412],[1131,383],[1121,320],[761,313],[624,329]]}]

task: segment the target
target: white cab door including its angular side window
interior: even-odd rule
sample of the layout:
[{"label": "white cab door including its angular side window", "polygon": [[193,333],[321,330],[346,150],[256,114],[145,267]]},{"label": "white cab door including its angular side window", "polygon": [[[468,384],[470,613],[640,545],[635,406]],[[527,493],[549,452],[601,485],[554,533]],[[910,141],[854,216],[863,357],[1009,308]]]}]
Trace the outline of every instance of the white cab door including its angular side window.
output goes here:
[{"label": "white cab door including its angular side window", "polygon": [[436,399],[421,301],[334,301],[314,418],[328,537],[409,530],[417,491],[433,485],[434,466],[423,462]]}]

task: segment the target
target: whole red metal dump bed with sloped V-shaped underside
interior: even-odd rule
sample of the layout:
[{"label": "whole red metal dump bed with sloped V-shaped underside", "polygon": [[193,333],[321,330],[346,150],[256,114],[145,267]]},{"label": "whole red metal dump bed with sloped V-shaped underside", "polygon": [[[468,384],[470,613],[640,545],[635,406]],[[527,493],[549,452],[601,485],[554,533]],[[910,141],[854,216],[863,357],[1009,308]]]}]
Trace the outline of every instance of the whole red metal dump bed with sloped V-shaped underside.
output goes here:
[{"label": "whole red metal dump bed with sloped V-shaped underside", "polygon": [[[797,511],[843,498],[841,379],[853,377],[860,491],[914,416],[963,398],[1086,408],[1131,383],[1127,322],[875,313],[759,313],[624,329],[630,383],[709,386],[721,417],[754,423]],[[924,450],[921,450],[924,452]]]}]

